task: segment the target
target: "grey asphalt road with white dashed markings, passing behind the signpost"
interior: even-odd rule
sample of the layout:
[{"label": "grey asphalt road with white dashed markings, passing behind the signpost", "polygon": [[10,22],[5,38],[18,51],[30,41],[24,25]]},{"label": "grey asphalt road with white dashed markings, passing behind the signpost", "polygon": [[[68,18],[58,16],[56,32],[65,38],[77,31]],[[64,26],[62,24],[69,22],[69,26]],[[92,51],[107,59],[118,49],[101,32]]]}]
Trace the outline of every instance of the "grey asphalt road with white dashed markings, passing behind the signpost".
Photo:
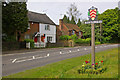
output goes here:
[{"label": "grey asphalt road with white dashed markings, passing behind the signpost", "polygon": [[[98,45],[95,47],[95,52],[112,49],[115,47],[118,47],[118,44]],[[35,67],[44,66],[46,64],[72,57],[90,54],[90,52],[90,46],[82,46],[74,48],[44,49],[34,52],[3,55],[2,76],[7,76]]]}]

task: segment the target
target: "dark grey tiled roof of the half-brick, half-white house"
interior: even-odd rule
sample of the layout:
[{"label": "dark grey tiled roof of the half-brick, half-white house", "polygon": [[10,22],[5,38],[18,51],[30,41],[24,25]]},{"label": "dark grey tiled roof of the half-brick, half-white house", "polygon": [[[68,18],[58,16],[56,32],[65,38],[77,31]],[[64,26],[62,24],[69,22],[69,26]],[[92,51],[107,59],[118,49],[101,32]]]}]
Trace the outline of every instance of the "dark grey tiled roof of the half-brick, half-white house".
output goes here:
[{"label": "dark grey tiled roof of the half-brick, half-white house", "polygon": [[28,19],[33,22],[55,25],[55,23],[46,14],[28,11]]}]

